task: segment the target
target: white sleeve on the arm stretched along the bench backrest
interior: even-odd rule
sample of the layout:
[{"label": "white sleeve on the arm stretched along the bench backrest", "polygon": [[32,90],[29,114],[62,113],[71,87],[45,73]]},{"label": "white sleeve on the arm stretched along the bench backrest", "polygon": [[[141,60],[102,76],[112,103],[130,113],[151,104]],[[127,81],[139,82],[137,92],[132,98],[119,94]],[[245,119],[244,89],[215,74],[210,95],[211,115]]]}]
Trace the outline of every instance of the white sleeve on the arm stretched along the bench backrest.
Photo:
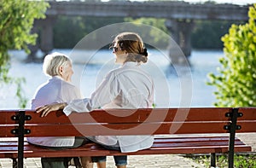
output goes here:
[{"label": "white sleeve on the arm stretched along the bench backrest", "polygon": [[119,84],[113,72],[108,73],[107,77],[103,79],[102,84],[92,93],[90,98],[77,99],[70,101],[67,107],[63,109],[66,115],[73,111],[78,113],[90,112],[96,108],[113,101],[119,94]]}]

